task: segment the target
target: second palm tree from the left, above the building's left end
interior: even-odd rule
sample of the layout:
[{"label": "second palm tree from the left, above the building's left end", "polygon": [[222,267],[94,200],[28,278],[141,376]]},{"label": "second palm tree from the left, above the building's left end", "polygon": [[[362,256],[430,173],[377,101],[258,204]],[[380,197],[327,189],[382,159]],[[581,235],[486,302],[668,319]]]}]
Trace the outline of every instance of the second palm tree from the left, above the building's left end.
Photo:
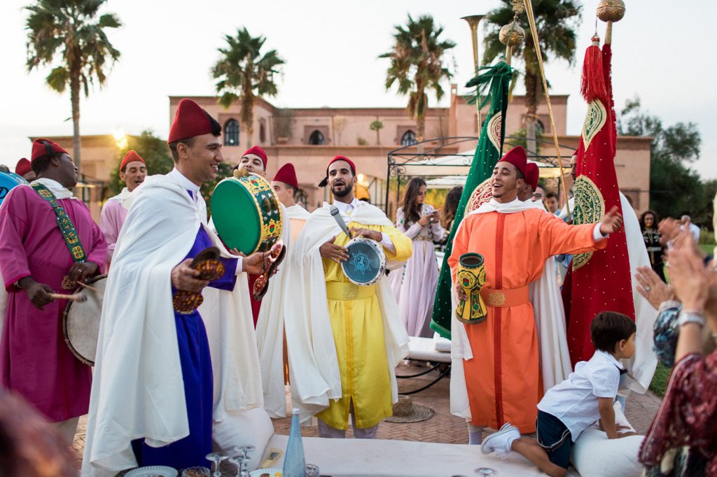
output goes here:
[{"label": "second palm tree from the left, above the building's left end", "polygon": [[228,108],[239,100],[242,105],[241,120],[247,131],[248,145],[252,145],[254,133],[254,100],[256,97],[276,96],[274,75],[277,67],[284,64],[275,49],[262,55],[265,37],[252,37],[246,27],[237,30],[237,36],[224,35],[227,47],[219,48],[222,58],[212,68],[217,81],[219,104]]}]

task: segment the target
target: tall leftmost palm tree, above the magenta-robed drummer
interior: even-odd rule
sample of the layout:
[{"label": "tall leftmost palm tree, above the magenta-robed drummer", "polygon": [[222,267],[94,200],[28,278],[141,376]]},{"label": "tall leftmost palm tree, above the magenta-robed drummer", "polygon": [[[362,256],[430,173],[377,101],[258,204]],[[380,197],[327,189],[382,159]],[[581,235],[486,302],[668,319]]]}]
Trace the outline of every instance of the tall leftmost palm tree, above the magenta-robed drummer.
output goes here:
[{"label": "tall leftmost palm tree, above the magenta-robed drummer", "polygon": [[121,26],[115,14],[103,14],[106,0],[37,0],[26,6],[27,71],[50,66],[45,78],[57,92],[70,85],[72,102],[72,158],[80,168],[80,90],[90,95],[90,85],[102,87],[108,62],[120,57],[105,29]]}]

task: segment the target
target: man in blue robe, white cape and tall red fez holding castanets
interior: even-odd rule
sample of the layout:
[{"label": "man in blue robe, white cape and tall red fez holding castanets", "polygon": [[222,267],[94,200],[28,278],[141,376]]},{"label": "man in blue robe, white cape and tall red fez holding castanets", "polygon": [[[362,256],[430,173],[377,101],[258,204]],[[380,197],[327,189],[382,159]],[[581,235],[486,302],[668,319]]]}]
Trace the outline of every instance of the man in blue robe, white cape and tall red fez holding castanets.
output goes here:
[{"label": "man in blue robe, white cape and tall red fez holding castanets", "polygon": [[[199,191],[224,161],[221,130],[181,100],[168,138],[174,169],[130,198],[104,294],[83,476],[209,466],[212,423],[262,405],[242,271],[260,273],[268,254],[229,254]],[[192,266],[209,246],[221,253],[212,281]]]}]

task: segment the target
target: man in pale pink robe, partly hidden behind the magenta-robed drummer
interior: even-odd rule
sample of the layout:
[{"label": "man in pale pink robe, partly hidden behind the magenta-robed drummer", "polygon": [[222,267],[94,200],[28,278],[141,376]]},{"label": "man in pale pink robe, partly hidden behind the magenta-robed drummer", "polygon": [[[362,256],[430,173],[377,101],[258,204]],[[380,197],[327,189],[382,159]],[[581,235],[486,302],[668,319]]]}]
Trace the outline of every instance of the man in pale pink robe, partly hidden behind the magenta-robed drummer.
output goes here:
[{"label": "man in pale pink robe, partly hidden behind the magenta-robed drummer", "polygon": [[123,205],[137,186],[144,182],[147,176],[147,165],[136,150],[130,150],[120,163],[120,179],[124,181],[125,188],[114,197],[110,197],[102,207],[100,215],[100,228],[107,241],[107,268],[110,268],[112,255],[115,253],[115,244],[120,236],[120,230],[127,218],[127,209]]}]

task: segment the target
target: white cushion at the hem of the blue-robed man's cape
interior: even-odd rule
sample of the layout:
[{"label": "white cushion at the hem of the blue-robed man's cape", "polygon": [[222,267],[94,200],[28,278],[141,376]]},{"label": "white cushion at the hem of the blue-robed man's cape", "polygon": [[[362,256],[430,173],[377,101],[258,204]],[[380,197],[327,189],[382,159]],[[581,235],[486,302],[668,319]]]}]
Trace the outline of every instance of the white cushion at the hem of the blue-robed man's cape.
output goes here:
[{"label": "white cushion at the hem of the blue-robed man's cape", "polygon": [[254,445],[256,450],[250,454],[250,471],[260,464],[262,452],[274,435],[274,425],[264,408],[255,408],[232,414],[212,426],[214,449],[222,450],[228,456],[237,456],[239,448]]}]

